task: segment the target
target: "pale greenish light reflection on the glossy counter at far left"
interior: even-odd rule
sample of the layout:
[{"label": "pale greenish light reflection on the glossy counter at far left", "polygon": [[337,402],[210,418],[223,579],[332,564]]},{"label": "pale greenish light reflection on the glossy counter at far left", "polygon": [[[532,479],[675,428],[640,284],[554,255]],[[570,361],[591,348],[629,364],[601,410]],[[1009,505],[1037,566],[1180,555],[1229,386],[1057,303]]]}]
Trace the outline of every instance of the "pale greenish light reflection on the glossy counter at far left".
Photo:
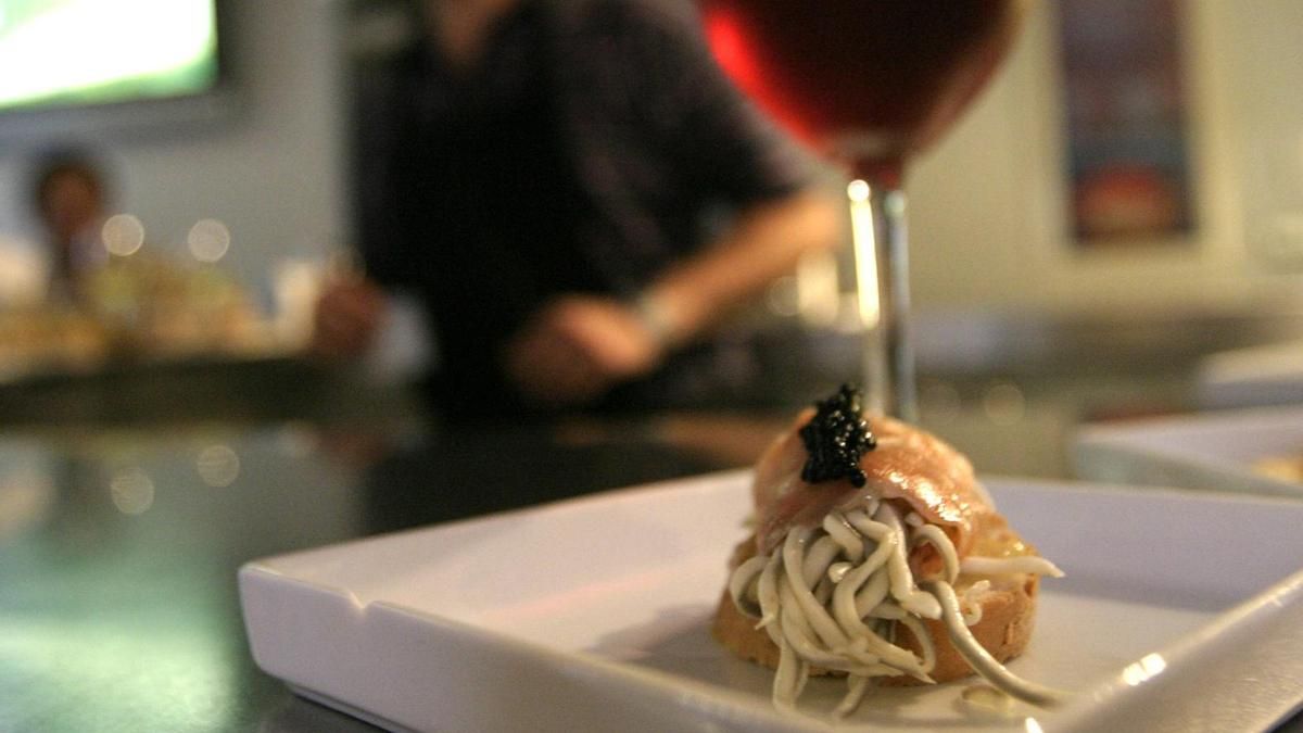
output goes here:
[{"label": "pale greenish light reflection on the glossy counter at far left", "polygon": [[[235,567],[358,532],[349,473],[296,463],[284,429],[0,442],[0,729],[257,728],[280,690],[246,659]],[[244,480],[215,485],[232,455]]]}]

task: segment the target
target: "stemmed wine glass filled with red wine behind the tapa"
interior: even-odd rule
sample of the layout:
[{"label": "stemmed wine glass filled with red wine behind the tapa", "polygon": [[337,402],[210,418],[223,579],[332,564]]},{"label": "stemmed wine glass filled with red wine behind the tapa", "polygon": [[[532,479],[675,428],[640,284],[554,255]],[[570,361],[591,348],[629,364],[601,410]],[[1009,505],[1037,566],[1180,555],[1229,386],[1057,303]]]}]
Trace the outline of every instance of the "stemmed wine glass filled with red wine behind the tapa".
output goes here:
[{"label": "stemmed wine glass filled with red wine behind the tapa", "polygon": [[702,0],[724,70],[853,175],[847,200],[872,411],[917,420],[906,160],[985,87],[1024,12],[1023,0]]}]

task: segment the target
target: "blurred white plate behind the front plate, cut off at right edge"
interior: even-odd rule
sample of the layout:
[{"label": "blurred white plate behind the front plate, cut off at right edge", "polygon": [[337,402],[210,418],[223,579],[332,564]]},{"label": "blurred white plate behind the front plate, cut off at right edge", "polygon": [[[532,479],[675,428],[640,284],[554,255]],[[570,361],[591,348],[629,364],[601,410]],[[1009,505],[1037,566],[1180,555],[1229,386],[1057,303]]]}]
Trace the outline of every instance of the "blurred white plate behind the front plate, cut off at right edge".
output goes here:
[{"label": "blurred white plate behind the front plate, cut off at right edge", "polygon": [[1100,423],[1072,438],[1074,468],[1085,480],[1303,498],[1303,484],[1253,471],[1287,456],[1303,458],[1303,407]]}]

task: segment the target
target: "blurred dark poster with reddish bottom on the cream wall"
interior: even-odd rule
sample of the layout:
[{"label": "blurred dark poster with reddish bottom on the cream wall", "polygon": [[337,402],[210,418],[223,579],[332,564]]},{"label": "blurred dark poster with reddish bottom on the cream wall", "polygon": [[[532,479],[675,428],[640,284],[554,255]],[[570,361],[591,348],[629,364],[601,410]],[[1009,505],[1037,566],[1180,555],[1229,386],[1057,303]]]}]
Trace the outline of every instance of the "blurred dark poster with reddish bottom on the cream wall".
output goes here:
[{"label": "blurred dark poster with reddish bottom on the cream wall", "polygon": [[1178,0],[1063,0],[1058,10],[1075,241],[1192,241]]}]

